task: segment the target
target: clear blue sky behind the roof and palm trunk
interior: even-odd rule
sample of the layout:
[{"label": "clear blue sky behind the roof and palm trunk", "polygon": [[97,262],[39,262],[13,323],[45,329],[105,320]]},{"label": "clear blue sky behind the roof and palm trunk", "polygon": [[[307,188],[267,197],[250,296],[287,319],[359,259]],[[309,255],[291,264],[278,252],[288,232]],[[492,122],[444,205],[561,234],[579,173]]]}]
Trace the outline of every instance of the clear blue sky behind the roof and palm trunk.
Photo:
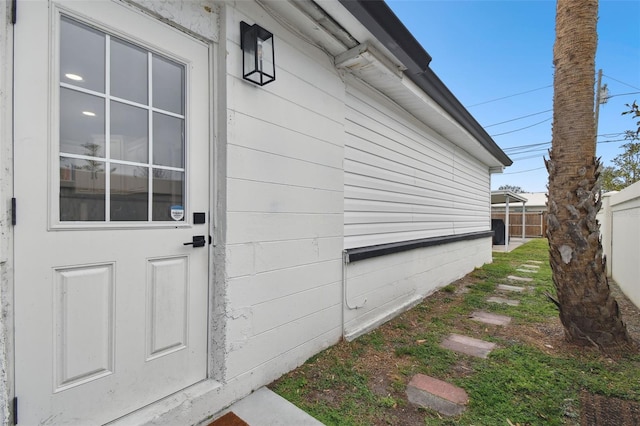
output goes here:
[{"label": "clear blue sky behind the roof and palm trunk", "polygon": [[[543,156],[553,117],[553,0],[386,0],[432,57],[430,68],[513,160],[491,189],[545,192]],[[640,103],[640,0],[600,0],[596,69],[610,95],[600,105],[597,155],[605,166],[634,129]],[[595,87],[594,76],[594,87]]]}]

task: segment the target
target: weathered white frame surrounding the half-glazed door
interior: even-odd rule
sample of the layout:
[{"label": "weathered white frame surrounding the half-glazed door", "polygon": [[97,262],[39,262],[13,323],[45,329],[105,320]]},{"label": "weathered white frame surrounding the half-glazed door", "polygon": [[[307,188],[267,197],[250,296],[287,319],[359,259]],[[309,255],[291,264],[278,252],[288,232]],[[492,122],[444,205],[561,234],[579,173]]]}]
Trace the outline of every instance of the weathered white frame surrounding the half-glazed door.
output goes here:
[{"label": "weathered white frame surrounding the half-glazed door", "polygon": [[[158,413],[164,413],[168,417],[182,416],[177,413],[181,411],[181,405],[189,400],[205,398],[211,401],[216,398],[216,403],[207,403],[207,413],[194,413],[201,420],[206,415],[213,414],[232,402],[236,392],[225,392],[221,395],[222,383],[226,382],[226,334],[225,334],[225,293],[224,282],[224,246],[225,246],[225,211],[226,201],[224,195],[224,181],[226,179],[226,53],[225,48],[220,48],[220,36],[222,32],[222,42],[225,40],[225,26],[220,23],[224,20],[226,6],[219,5],[212,14],[217,14],[219,19],[209,18],[212,31],[207,35],[201,35],[180,23],[173,21],[169,11],[167,18],[163,16],[162,10],[149,10],[135,3],[135,0],[121,0],[119,3],[131,8],[137,13],[145,13],[156,20],[162,21],[165,25],[172,26],[187,33],[189,36],[204,42],[209,48],[209,235],[212,237],[212,246],[209,249],[208,259],[208,324],[207,324],[207,373],[206,379],[187,388],[190,392],[179,392],[170,397],[157,401],[147,407],[136,410],[125,417],[117,419],[113,424],[145,423],[156,418]],[[7,10],[0,10],[0,49],[6,52],[0,58],[0,202],[4,203],[0,207],[0,306],[5,315],[0,319],[0,424],[14,424],[14,408],[16,407],[15,395],[15,375],[13,366],[15,365],[14,346],[14,315],[15,306],[14,286],[16,285],[13,275],[13,265],[15,252],[13,249],[13,227],[19,226],[19,201],[17,202],[17,220],[12,223],[12,197],[13,176],[15,166],[13,163],[13,52],[14,52],[14,25],[20,24],[19,10],[16,13],[17,22],[12,22],[12,2],[3,2]],[[148,7],[153,4],[145,3]],[[197,5],[191,7],[197,8]],[[176,9],[176,11],[182,9]],[[193,15],[191,15],[193,16]],[[194,24],[194,29],[199,29]],[[224,46],[223,46],[224,47]],[[216,98],[216,94],[221,94]],[[231,386],[235,388],[236,386]],[[172,414],[173,413],[173,414]],[[19,419],[18,419],[19,420]]]}]

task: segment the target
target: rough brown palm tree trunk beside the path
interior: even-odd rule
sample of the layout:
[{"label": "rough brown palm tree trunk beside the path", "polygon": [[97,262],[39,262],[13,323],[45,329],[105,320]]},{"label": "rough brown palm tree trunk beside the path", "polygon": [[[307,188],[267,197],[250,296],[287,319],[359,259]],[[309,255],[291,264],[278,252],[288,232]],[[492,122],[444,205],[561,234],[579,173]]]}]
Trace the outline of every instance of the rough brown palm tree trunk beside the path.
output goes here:
[{"label": "rough brown palm tree trunk beside the path", "polygon": [[568,341],[631,347],[605,273],[594,119],[597,0],[558,0],[547,238]]}]

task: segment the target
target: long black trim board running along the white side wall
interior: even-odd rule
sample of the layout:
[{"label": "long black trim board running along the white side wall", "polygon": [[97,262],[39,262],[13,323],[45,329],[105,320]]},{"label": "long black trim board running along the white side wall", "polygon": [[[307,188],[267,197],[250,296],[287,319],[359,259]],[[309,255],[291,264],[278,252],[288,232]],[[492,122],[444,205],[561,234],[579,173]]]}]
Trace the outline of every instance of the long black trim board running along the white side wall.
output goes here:
[{"label": "long black trim board running along the white side wall", "polygon": [[398,243],[379,244],[368,247],[358,247],[345,250],[345,261],[347,263],[372,257],[384,256],[387,254],[400,253],[423,247],[439,246],[442,244],[455,243],[457,241],[470,241],[479,238],[493,237],[493,231],[470,232],[460,235],[445,235],[443,237],[421,238],[419,240],[401,241]]}]

